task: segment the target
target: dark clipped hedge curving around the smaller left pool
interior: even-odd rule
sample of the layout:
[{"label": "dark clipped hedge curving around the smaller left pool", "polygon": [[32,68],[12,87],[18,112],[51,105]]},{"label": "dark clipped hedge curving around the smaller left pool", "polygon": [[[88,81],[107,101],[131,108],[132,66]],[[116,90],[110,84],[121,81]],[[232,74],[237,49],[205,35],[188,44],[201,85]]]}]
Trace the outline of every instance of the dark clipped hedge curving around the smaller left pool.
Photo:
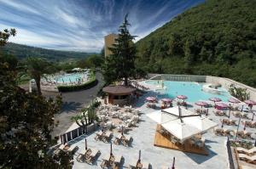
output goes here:
[{"label": "dark clipped hedge curving around the smaller left pool", "polygon": [[74,86],[58,86],[58,90],[59,92],[73,92],[73,91],[95,87],[97,83],[98,83],[98,80],[94,76],[89,82],[85,82],[84,84],[74,85]]}]

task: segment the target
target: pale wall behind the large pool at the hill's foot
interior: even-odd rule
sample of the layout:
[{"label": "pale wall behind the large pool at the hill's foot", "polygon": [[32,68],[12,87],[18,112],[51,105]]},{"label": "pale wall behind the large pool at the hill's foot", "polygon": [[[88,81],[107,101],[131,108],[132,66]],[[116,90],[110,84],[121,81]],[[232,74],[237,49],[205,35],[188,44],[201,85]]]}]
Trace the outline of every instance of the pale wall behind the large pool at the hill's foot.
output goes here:
[{"label": "pale wall behind the large pool at the hill's foot", "polygon": [[228,78],[218,76],[197,76],[197,75],[172,75],[172,74],[148,74],[153,77],[153,80],[166,80],[166,81],[179,81],[179,82],[207,82],[207,83],[219,83],[225,89],[229,89],[231,84],[235,84],[236,87],[246,88],[250,93],[250,99],[256,100],[256,89],[249,87],[241,82],[236,82]]}]

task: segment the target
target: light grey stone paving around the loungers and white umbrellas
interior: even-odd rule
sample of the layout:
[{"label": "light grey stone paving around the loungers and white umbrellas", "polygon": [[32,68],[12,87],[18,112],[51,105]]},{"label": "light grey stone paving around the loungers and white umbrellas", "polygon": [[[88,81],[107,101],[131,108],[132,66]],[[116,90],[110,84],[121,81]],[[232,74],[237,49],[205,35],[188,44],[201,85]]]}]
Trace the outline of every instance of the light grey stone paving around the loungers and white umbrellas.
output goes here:
[{"label": "light grey stone paving around the loungers and white umbrellas", "polygon": [[[214,135],[213,130],[208,131],[203,136],[206,138],[206,147],[209,155],[196,155],[191,153],[186,153],[174,149],[165,149],[154,146],[154,137],[155,137],[155,128],[157,123],[148,118],[147,114],[155,110],[146,108],[145,98],[148,96],[155,96],[157,93],[154,91],[149,91],[141,97],[137,104],[135,105],[138,110],[141,110],[143,114],[140,116],[140,122],[137,124],[137,127],[134,127],[128,134],[133,138],[131,147],[125,147],[123,145],[113,144],[113,155],[123,155],[125,158],[124,166],[121,168],[129,168],[131,163],[137,161],[138,151],[142,150],[142,161],[149,162],[152,164],[153,168],[157,169],[167,169],[172,165],[172,158],[175,157],[175,168],[177,169],[205,169],[205,168],[218,168],[218,169],[227,169],[229,166],[229,160],[227,155],[227,149],[225,147],[226,138],[219,137]],[[174,104],[175,105],[175,104]],[[189,110],[194,111],[199,108],[198,106],[191,104]],[[160,104],[157,104],[160,107]],[[212,113],[213,108],[209,109],[208,117],[212,121],[218,122],[221,126],[219,119],[226,117],[219,117]],[[231,119],[237,119],[231,115]],[[236,127],[226,127],[236,130]],[[242,130],[243,126],[239,130]],[[247,130],[255,133],[255,129],[248,128]],[[113,136],[117,136],[118,133],[113,133]],[[102,168],[100,165],[102,163],[102,158],[106,155],[109,155],[110,144],[103,143],[102,141],[96,141],[94,138],[96,132],[91,133],[90,135],[83,135],[70,144],[76,144],[79,149],[74,155],[74,165],[75,169],[96,169]],[[255,137],[255,135],[253,135]],[[101,155],[98,157],[96,162],[93,165],[89,165],[85,162],[78,162],[76,160],[77,155],[84,149],[84,138],[87,138],[88,148],[99,149]],[[112,139],[113,140],[113,139]]]}]

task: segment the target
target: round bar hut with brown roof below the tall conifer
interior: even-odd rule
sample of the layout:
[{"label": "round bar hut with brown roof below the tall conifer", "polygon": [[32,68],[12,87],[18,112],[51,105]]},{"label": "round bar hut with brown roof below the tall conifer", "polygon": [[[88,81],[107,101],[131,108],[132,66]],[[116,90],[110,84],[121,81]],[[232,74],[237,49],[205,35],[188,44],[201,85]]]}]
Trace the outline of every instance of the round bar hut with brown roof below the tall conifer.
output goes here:
[{"label": "round bar hut with brown roof below the tall conifer", "polygon": [[102,91],[108,93],[108,104],[129,104],[131,95],[135,93],[136,88],[131,86],[108,86],[103,87]]}]

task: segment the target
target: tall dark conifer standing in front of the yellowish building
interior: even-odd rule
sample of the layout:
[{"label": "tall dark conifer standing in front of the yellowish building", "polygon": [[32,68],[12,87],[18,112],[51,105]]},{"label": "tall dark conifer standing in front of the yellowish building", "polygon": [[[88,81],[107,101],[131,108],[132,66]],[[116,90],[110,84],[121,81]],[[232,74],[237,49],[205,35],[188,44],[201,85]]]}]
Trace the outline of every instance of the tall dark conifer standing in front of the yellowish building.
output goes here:
[{"label": "tall dark conifer standing in front of the yellowish building", "polygon": [[128,26],[128,14],[125,15],[125,20],[119,26],[118,37],[116,43],[109,50],[112,52],[106,59],[106,64],[103,68],[103,76],[107,83],[123,80],[125,86],[128,85],[128,78],[136,76],[136,48],[132,42],[136,36],[131,36]]}]

